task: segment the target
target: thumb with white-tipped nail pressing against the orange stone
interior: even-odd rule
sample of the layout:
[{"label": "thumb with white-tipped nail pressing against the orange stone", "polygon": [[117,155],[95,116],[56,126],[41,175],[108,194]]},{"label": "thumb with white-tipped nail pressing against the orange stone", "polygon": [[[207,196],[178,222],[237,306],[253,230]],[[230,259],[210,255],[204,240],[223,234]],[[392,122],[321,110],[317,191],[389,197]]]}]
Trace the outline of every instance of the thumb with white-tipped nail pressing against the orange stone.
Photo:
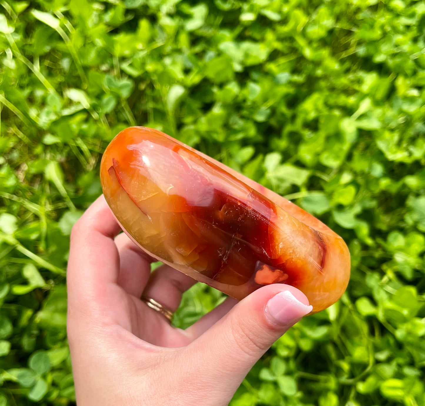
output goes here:
[{"label": "thumb with white-tipped nail pressing against the orange stone", "polygon": [[311,311],[300,290],[284,284],[268,285],[236,304],[187,349],[192,347],[208,360],[202,366],[206,376],[218,373],[219,381],[234,381],[236,390],[264,352]]}]

